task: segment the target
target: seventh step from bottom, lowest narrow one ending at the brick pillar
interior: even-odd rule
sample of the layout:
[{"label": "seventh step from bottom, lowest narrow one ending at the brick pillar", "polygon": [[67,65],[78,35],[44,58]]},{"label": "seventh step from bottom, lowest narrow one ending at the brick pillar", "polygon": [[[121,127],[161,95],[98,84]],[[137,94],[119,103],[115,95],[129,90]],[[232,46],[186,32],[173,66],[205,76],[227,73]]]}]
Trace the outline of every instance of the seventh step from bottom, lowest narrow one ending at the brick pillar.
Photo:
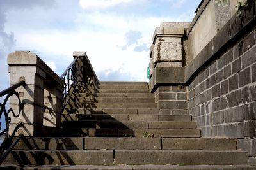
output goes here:
[{"label": "seventh step from bottom, lowest narrow one ending at the brick pillar", "polygon": [[[140,115],[140,114],[158,114],[157,108],[65,108],[64,114],[77,113],[77,114],[127,114],[127,115]],[[188,115],[186,115],[188,116]],[[189,116],[191,118],[191,116]]]}]

